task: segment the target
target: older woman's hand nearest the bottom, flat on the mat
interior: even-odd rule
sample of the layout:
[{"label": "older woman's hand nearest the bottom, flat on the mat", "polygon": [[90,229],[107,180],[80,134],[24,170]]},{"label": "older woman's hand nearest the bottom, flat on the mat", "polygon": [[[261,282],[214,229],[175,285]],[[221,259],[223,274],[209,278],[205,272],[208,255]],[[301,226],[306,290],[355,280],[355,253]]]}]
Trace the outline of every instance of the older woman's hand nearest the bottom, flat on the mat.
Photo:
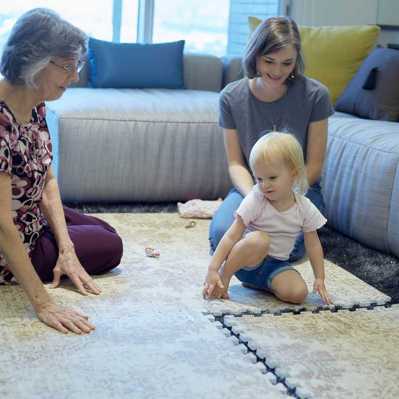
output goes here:
[{"label": "older woman's hand nearest the bottom, flat on the mat", "polygon": [[64,334],[67,334],[68,331],[75,334],[90,333],[95,329],[94,325],[88,321],[88,316],[72,308],[58,306],[52,301],[40,305],[36,312],[43,323]]}]

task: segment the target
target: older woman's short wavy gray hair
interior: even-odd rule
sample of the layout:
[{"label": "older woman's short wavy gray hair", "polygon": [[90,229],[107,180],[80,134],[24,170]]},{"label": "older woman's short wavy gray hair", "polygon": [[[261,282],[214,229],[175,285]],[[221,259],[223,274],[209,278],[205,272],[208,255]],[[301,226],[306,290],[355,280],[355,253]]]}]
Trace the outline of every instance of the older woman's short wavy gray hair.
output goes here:
[{"label": "older woman's short wavy gray hair", "polygon": [[88,37],[48,8],[25,12],[12,27],[1,55],[0,72],[14,85],[37,88],[35,77],[53,56],[85,54]]}]

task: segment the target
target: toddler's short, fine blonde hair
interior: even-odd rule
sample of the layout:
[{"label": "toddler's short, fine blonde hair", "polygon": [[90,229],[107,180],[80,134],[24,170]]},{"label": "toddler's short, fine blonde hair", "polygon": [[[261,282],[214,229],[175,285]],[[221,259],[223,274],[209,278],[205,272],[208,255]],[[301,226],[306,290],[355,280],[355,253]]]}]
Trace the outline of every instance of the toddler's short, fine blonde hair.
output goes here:
[{"label": "toddler's short, fine blonde hair", "polygon": [[298,177],[294,182],[294,189],[299,194],[306,195],[309,190],[309,184],[306,179],[302,146],[292,134],[282,132],[266,133],[252,147],[249,155],[249,165],[253,171],[253,166],[257,162],[275,163],[277,157],[284,162],[288,169],[298,172]]}]

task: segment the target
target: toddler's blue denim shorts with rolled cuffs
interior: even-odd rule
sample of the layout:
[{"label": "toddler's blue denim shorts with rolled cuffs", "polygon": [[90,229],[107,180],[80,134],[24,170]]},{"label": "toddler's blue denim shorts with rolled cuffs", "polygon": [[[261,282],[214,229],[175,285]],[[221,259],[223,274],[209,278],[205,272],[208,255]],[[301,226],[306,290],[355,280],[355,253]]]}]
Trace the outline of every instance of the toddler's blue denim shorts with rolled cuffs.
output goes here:
[{"label": "toddler's blue denim shorts with rolled cuffs", "polygon": [[271,280],[285,270],[295,270],[299,273],[286,260],[278,260],[271,256],[266,256],[258,266],[245,267],[236,271],[234,275],[243,283],[271,290]]}]

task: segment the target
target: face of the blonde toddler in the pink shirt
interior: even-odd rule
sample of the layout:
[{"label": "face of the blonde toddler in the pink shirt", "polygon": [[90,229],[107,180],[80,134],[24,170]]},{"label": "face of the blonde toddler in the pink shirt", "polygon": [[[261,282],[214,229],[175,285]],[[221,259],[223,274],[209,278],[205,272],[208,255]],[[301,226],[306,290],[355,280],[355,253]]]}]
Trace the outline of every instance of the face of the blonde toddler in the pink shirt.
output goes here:
[{"label": "face of the blonde toddler in the pink shirt", "polygon": [[297,172],[287,168],[282,160],[270,164],[256,162],[252,171],[259,191],[268,200],[284,200],[291,195]]}]

